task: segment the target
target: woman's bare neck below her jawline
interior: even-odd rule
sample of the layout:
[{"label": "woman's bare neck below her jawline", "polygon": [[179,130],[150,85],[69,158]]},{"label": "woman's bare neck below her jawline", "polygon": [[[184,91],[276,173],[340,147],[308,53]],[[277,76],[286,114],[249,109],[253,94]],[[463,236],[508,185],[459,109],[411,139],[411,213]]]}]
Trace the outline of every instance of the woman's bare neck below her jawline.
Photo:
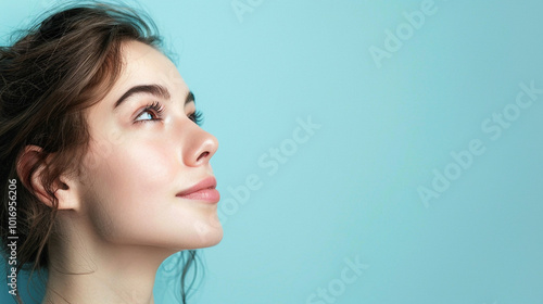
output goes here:
[{"label": "woman's bare neck below her jawline", "polygon": [[77,226],[50,241],[43,303],[154,303],[156,270],[174,252],[106,242]]}]

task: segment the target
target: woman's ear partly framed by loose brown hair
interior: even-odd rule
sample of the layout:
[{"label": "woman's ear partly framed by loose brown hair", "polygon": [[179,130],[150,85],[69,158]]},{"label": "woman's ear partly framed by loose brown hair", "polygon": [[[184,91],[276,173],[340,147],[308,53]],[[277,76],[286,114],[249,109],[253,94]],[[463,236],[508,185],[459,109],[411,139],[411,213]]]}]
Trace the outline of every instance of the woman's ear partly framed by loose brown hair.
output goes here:
[{"label": "woman's ear partly framed by loose brown hair", "polygon": [[[46,190],[42,174],[47,168],[48,155],[42,160],[42,149],[38,145],[26,145],[17,162],[17,175],[23,185],[43,204],[53,207],[53,197]],[[65,175],[59,176],[52,183],[53,195],[59,203],[59,210],[76,210],[79,205],[76,195],[76,183]]]}]

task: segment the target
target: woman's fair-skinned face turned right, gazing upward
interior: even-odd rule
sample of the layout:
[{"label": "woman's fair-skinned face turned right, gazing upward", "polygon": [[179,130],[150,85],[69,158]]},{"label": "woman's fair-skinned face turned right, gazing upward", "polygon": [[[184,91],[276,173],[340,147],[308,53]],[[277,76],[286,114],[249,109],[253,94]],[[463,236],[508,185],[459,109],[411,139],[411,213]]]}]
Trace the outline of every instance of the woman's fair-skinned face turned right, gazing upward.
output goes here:
[{"label": "woman's fair-skinned face turned right, gazing upward", "polygon": [[121,244],[214,245],[223,238],[210,165],[217,140],[194,123],[192,93],[164,54],[128,41],[123,58],[121,77],[87,116],[77,187],[88,227]]}]

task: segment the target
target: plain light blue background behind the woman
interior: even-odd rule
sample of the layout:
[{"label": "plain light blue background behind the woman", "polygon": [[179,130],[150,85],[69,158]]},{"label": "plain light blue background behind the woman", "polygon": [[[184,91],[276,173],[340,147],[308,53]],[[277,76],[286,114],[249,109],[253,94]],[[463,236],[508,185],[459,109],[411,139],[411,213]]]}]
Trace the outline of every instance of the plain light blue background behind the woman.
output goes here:
[{"label": "plain light blue background behind the woman", "polygon": [[[2,39],[54,2],[1,1]],[[220,143],[230,215],[189,303],[328,303],[310,301],[318,288],[334,303],[543,303],[543,94],[496,140],[481,128],[521,83],[543,88],[543,2],[435,0],[379,68],[369,48],[424,1],[248,1],[241,22],[230,0],[139,2]],[[258,159],[307,117],[320,128],[269,175]],[[472,139],[484,153],[425,206],[417,189]],[[236,207],[228,189],[251,174],[263,186]],[[338,291],[356,257],[369,267]],[[162,279],[156,302],[175,303]]]}]

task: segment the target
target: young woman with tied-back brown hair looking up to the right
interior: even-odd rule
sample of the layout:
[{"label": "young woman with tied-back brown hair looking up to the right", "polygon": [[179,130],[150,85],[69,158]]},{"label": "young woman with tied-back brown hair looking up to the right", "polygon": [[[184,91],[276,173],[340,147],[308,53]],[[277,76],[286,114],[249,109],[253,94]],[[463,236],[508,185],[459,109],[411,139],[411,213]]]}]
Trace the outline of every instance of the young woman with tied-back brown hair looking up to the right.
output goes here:
[{"label": "young woman with tied-back brown hair looking up to the right", "polygon": [[154,303],[167,256],[223,238],[217,140],[153,28],[78,4],[0,48],[0,232],[42,303]]}]

